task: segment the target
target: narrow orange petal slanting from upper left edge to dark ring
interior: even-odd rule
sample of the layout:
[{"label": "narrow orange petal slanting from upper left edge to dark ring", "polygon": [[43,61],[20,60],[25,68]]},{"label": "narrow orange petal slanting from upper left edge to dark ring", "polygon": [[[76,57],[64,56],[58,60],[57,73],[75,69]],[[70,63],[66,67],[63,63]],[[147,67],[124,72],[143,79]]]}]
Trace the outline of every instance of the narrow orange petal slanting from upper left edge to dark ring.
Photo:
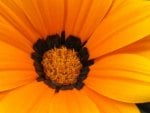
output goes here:
[{"label": "narrow orange petal slanting from upper left edge to dark ring", "polygon": [[4,41],[27,53],[30,53],[32,51],[32,44],[16,29],[4,23],[0,23],[0,41]]}]

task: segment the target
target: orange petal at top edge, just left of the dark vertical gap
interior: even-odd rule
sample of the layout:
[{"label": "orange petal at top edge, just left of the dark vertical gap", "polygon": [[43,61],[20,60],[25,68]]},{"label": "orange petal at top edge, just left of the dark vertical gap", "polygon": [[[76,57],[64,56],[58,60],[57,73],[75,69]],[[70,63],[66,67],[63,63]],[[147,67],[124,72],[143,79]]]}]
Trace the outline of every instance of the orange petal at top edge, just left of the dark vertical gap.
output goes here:
[{"label": "orange petal at top edge, just left of the dark vertical gap", "polygon": [[37,1],[41,17],[45,22],[49,34],[61,33],[63,30],[65,18],[64,3],[64,0]]}]

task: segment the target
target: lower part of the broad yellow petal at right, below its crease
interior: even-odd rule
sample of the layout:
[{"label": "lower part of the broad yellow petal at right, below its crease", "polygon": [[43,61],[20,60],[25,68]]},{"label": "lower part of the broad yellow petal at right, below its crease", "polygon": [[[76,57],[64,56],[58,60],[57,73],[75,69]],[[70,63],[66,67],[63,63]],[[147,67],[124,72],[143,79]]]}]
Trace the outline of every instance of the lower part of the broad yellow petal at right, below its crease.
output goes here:
[{"label": "lower part of the broad yellow petal at right, below its crease", "polygon": [[110,77],[88,77],[86,85],[99,94],[121,102],[150,101],[150,83],[147,82]]}]

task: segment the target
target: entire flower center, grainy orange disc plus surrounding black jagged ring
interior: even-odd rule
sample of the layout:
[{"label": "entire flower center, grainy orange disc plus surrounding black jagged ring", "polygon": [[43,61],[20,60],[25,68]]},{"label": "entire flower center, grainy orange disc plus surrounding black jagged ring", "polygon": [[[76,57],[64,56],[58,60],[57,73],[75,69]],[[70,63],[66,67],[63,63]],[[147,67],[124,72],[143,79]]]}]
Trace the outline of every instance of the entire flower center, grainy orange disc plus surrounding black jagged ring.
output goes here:
[{"label": "entire flower center, grainy orange disc plus surrounding black jagged ring", "polygon": [[89,60],[86,42],[75,36],[65,37],[54,34],[38,39],[33,45],[35,71],[39,75],[37,81],[44,81],[50,88],[59,90],[80,90],[94,61]]}]

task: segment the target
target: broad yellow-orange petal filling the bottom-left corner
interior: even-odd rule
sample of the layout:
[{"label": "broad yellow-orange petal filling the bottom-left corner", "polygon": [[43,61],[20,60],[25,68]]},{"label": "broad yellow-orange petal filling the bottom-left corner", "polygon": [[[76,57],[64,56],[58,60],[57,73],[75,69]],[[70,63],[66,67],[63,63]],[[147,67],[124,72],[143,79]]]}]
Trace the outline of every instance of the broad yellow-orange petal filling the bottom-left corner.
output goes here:
[{"label": "broad yellow-orange petal filling the bottom-left corner", "polygon": [[[49,94],[49,96],[47,96],[47,99],[49,100],[53,95],[53,92],[43,82],[35,81],[17,88],[8,93],[5,98],[1,100],[0,113],[30,113],[30,110],[34,109],[39,100],[44,99],[45,94]],[[43,106],[44,105],[48,106],[48,103],[45,102],[43,103]],[[43,107],[41,111],[45,111],[44,108],[45,107]]]}]

